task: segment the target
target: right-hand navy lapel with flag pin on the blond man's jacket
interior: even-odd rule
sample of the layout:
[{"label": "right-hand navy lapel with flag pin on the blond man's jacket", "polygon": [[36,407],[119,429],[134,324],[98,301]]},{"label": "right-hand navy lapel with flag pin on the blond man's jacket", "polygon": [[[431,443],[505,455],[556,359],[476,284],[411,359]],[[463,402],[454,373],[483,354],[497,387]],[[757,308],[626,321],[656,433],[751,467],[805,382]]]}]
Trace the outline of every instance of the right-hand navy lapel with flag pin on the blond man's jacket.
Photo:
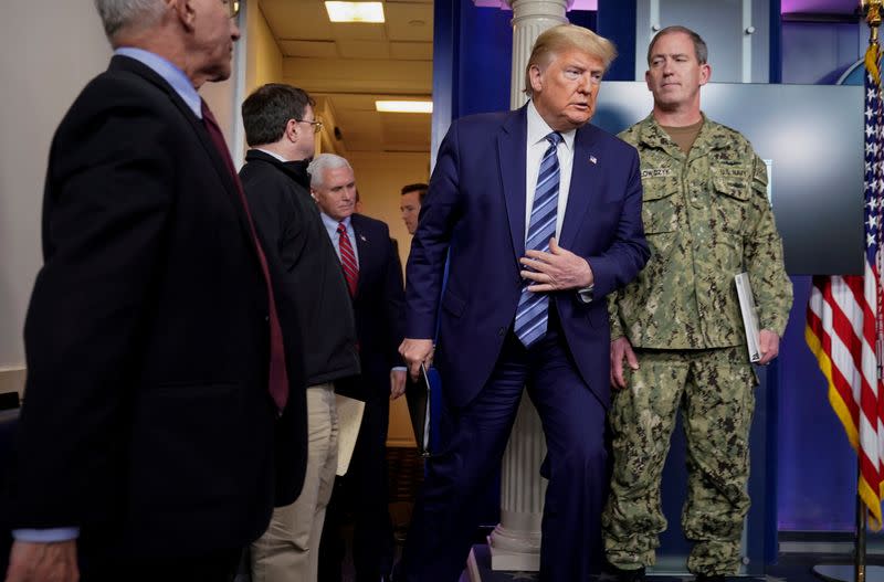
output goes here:
[{"label": "right-hand navy lapel with flag pin on the blond man's jacket", "polygon": [[571,183],[568,188],[568,205],[565,209],[565,221],[559,233],[559,244],[562,248],[571,248],[583,218],[589,208],[590,199],[598,194],[599,181],[598,166],[601,162],[596,158],[592,146],[596,141],[598,129],[591,125],[578,129],[573,140],[573,162],[571,166]]}]

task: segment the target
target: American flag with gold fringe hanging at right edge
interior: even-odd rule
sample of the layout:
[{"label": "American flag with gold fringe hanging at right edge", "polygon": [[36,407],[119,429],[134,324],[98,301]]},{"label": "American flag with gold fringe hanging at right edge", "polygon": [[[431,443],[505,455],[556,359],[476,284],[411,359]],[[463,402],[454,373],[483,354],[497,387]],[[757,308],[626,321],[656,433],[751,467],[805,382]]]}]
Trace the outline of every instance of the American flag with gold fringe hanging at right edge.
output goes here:
[{"label": "American flag with gold fringe hanging at right edge", "polygon": [[859,455],[859,496],[881,529],[884,485],[882,229],[884,125],[877,43],[865,54],[865,265],[863,275],[814,276],[804,338],[829,380],[829,402]]}]

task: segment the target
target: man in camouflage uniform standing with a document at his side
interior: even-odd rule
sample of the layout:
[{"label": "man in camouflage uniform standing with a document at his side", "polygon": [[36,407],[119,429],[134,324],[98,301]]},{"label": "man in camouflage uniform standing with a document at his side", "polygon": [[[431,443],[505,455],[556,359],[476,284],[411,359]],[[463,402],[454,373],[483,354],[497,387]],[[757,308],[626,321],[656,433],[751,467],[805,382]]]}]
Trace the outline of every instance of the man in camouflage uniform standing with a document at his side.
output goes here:
[{"label": "man in camouflage uniform standing with a document at his side", "polygon": [[620,135],[641,157],[652,251],[639,277],[609,298],[611,383],[621,390],[609,413],[614,469],[602,523],[621,581],[644,576],[666,528],[660,479],[680,409],[688,469],[682,525],[695,542],[687,568],[702,581],[736,573],[757,380],[734,276],[745,271],[753,284],[758,363],[776,358],[792,300],[765,163],[699,109],[706,56],[695,32],[662,30],[648,50],[654,109]]}]

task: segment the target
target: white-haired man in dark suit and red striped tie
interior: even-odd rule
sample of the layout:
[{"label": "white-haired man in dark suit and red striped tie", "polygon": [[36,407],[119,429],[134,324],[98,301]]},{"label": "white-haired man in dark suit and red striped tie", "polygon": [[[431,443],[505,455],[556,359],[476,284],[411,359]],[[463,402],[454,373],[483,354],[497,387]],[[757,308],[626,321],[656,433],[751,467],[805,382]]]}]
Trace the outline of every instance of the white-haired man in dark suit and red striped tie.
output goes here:
[{"label": "white-haired man in dark suit and red striped tie", "polygon": [[[356,581],[377,582],[389,574],[393,559],[386,442],[390,399],[401,395],[406,385],[397,351],[402,341],[402,266],[387,224],[355,213],[356,178],[349,162],[334,154],[320,154],[308,171],[311,191],[350,284],[366,393],[352,461],[332,505],[336,514],[345,502],[352,508]],[[324,540],[322,552],[327,550]],[[324,572],[320,580],[340,580],[339,564],[335,565],[337,569],[332,565],[329,570],[335,571]]]}]

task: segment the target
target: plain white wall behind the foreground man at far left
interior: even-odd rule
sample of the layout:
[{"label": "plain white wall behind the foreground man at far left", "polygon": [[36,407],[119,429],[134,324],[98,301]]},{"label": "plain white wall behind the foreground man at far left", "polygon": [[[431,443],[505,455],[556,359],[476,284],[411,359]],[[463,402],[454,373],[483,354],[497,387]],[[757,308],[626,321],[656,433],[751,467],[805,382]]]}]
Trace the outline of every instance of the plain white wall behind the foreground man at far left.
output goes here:
[{"label": "plain white wall behind the foreground man at far left", "polygon": [[[24,381],[22,327],[42,265],[40,215],[53,133],[110,47],[91,0],[27,0],[0,19],[0,392]],[[230,82],[206,99],[230,138]]]}]

